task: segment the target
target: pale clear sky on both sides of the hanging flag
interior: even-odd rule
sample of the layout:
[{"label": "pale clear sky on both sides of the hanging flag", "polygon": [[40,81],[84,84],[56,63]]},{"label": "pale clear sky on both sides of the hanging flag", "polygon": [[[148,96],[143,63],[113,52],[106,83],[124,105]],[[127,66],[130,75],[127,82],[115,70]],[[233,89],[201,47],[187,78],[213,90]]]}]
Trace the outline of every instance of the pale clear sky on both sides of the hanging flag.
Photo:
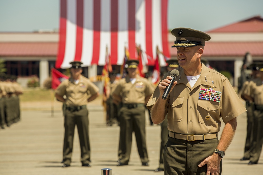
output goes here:
[{"label": "pale clear sky on both sides of the hanging flag", "polygon": [[[169,0],[168,28],[208,31],[260,15],[263,0]],[[59,0],[0,0],[0,32],[59,28]]]}]

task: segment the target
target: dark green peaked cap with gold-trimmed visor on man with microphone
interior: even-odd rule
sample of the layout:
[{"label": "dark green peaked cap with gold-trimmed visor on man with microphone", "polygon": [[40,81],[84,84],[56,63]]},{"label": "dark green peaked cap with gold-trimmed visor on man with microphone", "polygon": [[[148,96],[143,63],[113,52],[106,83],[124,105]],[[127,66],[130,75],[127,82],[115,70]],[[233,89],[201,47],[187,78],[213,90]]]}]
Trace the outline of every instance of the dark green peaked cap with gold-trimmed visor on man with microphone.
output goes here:
[{"label": "dark green peaked cap with gold-trimmed visor on man with microphone", "polygon": [[171,47],[193,47],[204,46],[205,41],[210,40],[210,36],[202,31],[190,28],[175,28],[171,33],[176,37],[174,45]]}]

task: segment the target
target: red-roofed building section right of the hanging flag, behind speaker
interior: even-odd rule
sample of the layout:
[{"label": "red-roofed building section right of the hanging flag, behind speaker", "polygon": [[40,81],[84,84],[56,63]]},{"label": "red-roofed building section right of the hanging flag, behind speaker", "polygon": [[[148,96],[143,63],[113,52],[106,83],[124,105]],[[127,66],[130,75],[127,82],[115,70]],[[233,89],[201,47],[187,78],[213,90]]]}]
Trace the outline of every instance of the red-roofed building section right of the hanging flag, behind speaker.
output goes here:
[{"label": "red-roofed building section right of the hanging flag, behind speaker", "polygon": [[[205,43],[202,57],[219,72],[230,72],[233,86],[238,86],[247,52],[253,61],[263,61],[263,18],[260,16],[205,32],[211,36],[211,40]],[[173,45],[173,35],[169,39],[170,45]],[[176,51],[175,48],[170,48],[171,56],[176,57]]]}]

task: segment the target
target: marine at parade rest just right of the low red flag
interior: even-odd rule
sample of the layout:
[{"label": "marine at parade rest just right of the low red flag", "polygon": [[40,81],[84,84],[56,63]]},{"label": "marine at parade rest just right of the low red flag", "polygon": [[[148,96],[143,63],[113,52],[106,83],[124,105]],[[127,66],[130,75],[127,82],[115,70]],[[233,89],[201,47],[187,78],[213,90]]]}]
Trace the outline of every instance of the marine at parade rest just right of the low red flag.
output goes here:
[{"label": "marine at parade rest just right of the low red flag", "polygon": [[[82,62],[70,62],[71,77],[57,87],[55,97],[66,104],[65,133],[67,133],[65,161],[63,167],[70,166],[75,125],[77,125],[82,166],[90,167],[89,119],[87,103],[99,96],[99,88],[81,75]],[[66,96],[64,99],[63,96]],[[89,96],[90,95],[90,96]]]}]

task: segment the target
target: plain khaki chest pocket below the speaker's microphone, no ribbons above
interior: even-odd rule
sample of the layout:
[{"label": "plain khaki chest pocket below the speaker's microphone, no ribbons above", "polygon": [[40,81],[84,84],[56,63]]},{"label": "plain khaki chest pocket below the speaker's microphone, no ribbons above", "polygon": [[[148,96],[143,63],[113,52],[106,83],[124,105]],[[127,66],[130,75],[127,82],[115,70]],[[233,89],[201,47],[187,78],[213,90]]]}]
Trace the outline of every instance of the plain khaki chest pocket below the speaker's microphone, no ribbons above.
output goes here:
[{"label": "plain khaki chest pocket below the speaker's microphone, no ribbons above", "polygon": [[170,97],[171,107],[173,111],[174,121],[181,121],[183,119],[183,103],[184,97]]}]

